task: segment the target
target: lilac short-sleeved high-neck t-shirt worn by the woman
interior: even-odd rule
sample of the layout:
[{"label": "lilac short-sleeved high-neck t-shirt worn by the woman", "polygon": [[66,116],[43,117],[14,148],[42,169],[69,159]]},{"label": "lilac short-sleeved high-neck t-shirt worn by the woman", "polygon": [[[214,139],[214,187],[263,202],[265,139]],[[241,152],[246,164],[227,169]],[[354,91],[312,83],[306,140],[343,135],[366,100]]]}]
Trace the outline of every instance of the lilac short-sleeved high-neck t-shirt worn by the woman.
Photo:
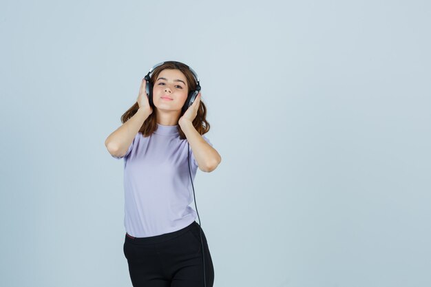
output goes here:
[{"label": "lilac short-sleeved high-neck t-shirt worn by the woman", "polygon": [[[208,138],[202,135],[208,142]],[[178,125],[157,124],[151,136],[136,134],[124,158],[126,232],[149,237],[178,231],[196,219],[189,204],[193,189],[187,164],[187,139],[182,140]],[[191,178],[198,163],[190,147]]]}]

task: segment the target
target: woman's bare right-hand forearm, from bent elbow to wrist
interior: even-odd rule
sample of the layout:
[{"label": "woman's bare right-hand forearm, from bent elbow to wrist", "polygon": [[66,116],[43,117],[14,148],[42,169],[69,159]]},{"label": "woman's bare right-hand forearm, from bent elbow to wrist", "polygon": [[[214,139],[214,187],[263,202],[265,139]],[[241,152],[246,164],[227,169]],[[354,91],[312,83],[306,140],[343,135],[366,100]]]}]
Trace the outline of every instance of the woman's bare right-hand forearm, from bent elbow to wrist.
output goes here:
[{"label": "woman's bare right-hand forearm, from bent elbow to wrist", "polygon": [[190,120],[182,119],[178,125],[189,141],[199,169],[205,172],[213,171],[222,161],[220,154],[200,136]]}]

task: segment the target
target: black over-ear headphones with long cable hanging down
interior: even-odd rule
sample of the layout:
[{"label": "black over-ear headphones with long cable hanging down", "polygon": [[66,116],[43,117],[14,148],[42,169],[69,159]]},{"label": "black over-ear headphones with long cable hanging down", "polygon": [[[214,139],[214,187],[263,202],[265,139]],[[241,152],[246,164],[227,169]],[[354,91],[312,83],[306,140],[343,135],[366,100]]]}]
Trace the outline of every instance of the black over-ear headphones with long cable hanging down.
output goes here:
[{"label": "black over-ear headphones with long cable hanging down", "polygon": [[[185,65],[185,64],[177,62],[177,61],[167,61],[167,62],[158,63],[158,64],[154,65],[153,67],[151,67],[148,74],[145,76],[145,81],[147,81],[147,85],[145,86],[145,92],[147,92],[149,104],[152,107],[154,107],[154,103],[153,103],[153,84],[151,83],[151,75],[153,74],[153,71],[154,71],[154,69],[156,69],[156,67],[159,67],[160,65],[163,65],[164,63],[173,63],[174,65],[178,65],[178,64]],[[185,101],[185,103],[181,109],[182,114],[185,113],[185,111],[187,111],[187,109],[191,106],[191,104],[193,104],[193,102],[196,99],[196,96],[198,96],[199,91],[200,91],[198,74],[196,74],[196,72],[193,71],[193,69],[191,69],[191,67],[189,67],[188,65],[185,65],[185,66],[189,68],[191,74],[193,74],[193,77],[195,78],[196,89],[189,92],[189,95],[187,96],[187,100]],[[198,219],[199,219],[199,235],[200,235],[200,244],[202,246],[202,260],[203,260],[203,266],[204,266],[204,286],[206,287],[207,286],[207,279],[205,278],[205,255],[204,255],[204,243],[202,242],[202,227],[201,227],[202,224],[200,224],[198,206],[196,206],[195,187],[193,186],[193,180],[191,180],[189,141],[187,141],[187,147],[188,147],[187,148],[187,151],[188,151],[187,152],[187,163],[189,164],[189,176],[190,176],[191,187],[193,188],[193,198],[194,198],[194,202],[195,202],[196,213],[198,213]]]}]

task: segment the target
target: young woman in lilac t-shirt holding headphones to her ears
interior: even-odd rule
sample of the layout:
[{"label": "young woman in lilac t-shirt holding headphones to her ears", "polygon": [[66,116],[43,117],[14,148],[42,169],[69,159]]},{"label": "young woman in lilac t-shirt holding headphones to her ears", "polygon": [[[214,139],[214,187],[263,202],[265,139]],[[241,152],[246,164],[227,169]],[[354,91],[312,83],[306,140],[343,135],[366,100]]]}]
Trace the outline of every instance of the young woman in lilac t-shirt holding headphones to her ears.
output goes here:
[{"label": "young woman in lilac t-shirt holding headphones to her ears", "polygon": [[203,136],[209,123],[199,91],[187,65],[155,65],[105,140],[114,158],[124,158],[123,251],[135,287],[213,286],[207,238],[189,206],[198,167],[211,172],[221,161]]}]

